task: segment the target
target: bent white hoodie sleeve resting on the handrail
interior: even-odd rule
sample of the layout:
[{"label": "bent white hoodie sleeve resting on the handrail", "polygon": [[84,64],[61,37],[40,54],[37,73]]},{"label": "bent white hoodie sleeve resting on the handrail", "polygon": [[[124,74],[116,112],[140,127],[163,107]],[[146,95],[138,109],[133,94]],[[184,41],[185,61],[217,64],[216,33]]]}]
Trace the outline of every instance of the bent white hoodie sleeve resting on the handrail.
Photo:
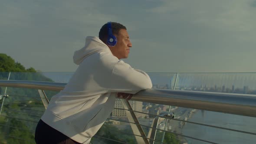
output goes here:
[{"label": "bent white hoodie sleeve resting on the handrail", "polygon": [[121,60],[116,63],[111,75],[109,92],[135,94],[148,88],[152,88],[152,82],[146,72],[133,69]]}]

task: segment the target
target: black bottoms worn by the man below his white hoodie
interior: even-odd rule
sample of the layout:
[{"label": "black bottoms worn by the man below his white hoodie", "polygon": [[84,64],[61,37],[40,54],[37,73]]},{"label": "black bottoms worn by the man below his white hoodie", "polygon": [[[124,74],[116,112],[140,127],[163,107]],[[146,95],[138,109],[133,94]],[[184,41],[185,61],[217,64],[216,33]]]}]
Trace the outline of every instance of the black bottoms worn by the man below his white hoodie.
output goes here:
[{"label": "black bottoms worn by the man below his white hoodie", "polygon": [[81,144],[50,127],[41,119],[36,126],[36,144]]}]

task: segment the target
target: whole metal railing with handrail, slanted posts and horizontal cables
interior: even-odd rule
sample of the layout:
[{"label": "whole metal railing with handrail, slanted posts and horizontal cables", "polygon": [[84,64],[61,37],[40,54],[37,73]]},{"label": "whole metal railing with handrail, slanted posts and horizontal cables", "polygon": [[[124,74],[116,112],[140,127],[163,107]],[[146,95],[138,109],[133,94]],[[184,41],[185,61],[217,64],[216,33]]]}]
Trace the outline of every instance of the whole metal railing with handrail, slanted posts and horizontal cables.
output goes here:
[{"label": "whole metal railing with handrail, slanted posts and horizontal cables", "polygon": [[[0,80],[0,86],[3,87],[18,87],[18,88],[33,88],[38,89],[40,97],[43,101],[43,105],[47,107],[47,100],[46,94],[44,93],[45,90],[50,91],[60,91],[65,87],[66,83],[56,83],[56,82],[36,82],[36,81],[16,81],[16,80]],[[7,95],[7,94],[5,94]],[[3,97],[4,95],[2,95]],[[4,97],[3,97],[4,98]],[[248,94],[231,94],[231,93],[219,93],[219,92],[194,92],[194,91],[180,91],[180,90],[164,90],[164,89],[148,89],[141,92],[138,92],[136,95],[134,95],[131,100],[133,101],[143,101],[143,102],[149,102],[149,103],[155,103],[155,104],[161,104],[161,105],[172,105],[177,107],[183,107],[183,108],[196,108],[200,110],[207,110],[207,111],[217,111],[222,113],[229,113],[229,114],[235,114],[235,115],[243,115],[243,116],[250,116],[250,117],[256,117],[256,96],[255,95],[248,95]],[[131,124],[133,135],[135,135],[136,141],[138,143],[146,143],[149,144],[154,143],[154,141],[158,143],[163,143],[163,141],[157,141],[154,140],[150,135],[146,136],[144,134],[144,131],[141,127],[150,128],[154,131],[164,131],[168,133],[174,133],[176,135],[180,135],[182,137],[188,137],[192,138],[198,141],[203,141],[207,143],[215,144],[212,141],[203,140],[196,137],[190,137],[184,134],[179,134],[171,131],[166,131],[157,128],[158,123],[156,126],[151,125],[151,127],[147,125],[140,124],[138,120],[136,120],[135,113],[143,113],[141,111],[134,111],[131,106],[129,106],[129,102],[122,100],[123,105],[126,105],[126,107],[122,110],[126,111],[126,114],[128,116],[128,121],[123,121],[119,119],[113,119],[109,118],[109,120],[114,121],[121,121],[121,122],[127,122]],[[49,101],[48,101],[49,103]],[[3,106],[3,104],[1,105]],[[1,108],[1,110],[4,110],[4,108]],[[12,109],[9,109],[9,111],[13,111]],[[170,111],[170,108],[169,108]],[[22,111],[16,111],[16,112],[22,112]],[[144,113],[145,115],[152,115]],[[5,117],[6,115],[1,115]],[[32,115],[36,116],[36,115]],[[177,118],[168,118],[163,117],[160,115],[152,115],[156,118],[166,118],[169,120],[174,121],[181,121],[191,124],[198,124],[203,125],[211,128],[218,128],[218,129],[224,129],[228,131],[236,131],[240,133],[245,134],[252,134],[256,135],[254,132],[248,132],[248,131],[240,131],[232,128],[223,128],[218,127],[210,124],[200,124],[192,121],[186,121],[186,120],[180,120]],[[13,117],[15,118],[15,117]],[[130,118],[130,119],[129,119]],[[19,119],[19,118],[17,118]],[[22,121],[30,121],[26,119],[20,118]],[[32,121],[35,122],[35,121]],[[167,122],[166,122],[167,123]],[[165,126],[166,126],[165,123]],[[132,126],[132,124],[134,124]],[[11,126],[10,126],[11,127]],[[155,133],[154,133],[155,134]],[[102,136],[97,135],[96,137]],[[105,137],[107,138],[107,137]],[[108,138],[109,139],[109,138]],[[114,140],[116,141],[116,140]],[[122,141],[119,141],[120,143],[125,143]]]}]

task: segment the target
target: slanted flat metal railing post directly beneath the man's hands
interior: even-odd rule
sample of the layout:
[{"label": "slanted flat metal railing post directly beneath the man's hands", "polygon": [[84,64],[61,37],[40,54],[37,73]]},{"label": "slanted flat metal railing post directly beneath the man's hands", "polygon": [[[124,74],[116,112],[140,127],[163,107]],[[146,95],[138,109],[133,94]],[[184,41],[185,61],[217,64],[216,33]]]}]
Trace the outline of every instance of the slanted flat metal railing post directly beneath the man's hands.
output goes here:
[{"label": "slanted flat metal railing post directly beneath the man's hands", "polygon": [[[132,129],[133,133],[136,135],[141,135],[141,137],[135,136],[137,143],[138,144],[149,144],[146,134],[144,133],[144,131],[138,121],[138,118],[136,117],[136,115],[131,107],[130,102],[125,99],[121,99],[121,101],[123,103],[124,108],[129,110],[129,111],[125,110],[125,113],[127,115],[128,121],[132,122],[132,123],[130,123],[130,125],[131,125],[131,129]],[[135,124],[133,124],[133,123],[135,123]]]}]

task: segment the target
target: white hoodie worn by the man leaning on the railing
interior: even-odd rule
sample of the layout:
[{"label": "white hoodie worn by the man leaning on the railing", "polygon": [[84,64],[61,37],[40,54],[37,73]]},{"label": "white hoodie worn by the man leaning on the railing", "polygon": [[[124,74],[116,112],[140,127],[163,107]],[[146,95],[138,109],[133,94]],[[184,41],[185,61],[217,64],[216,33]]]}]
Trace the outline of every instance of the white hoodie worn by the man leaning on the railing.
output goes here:
[{"label": "white hoodie worn by the man leaning on the railing", "polygon": [[73,56],[79,65],[66,87],[53,96],[42,120],[82,144],[89,144],[115,105],[116,92],[151,88],[148,74],[112,55],[95,36]]}]

